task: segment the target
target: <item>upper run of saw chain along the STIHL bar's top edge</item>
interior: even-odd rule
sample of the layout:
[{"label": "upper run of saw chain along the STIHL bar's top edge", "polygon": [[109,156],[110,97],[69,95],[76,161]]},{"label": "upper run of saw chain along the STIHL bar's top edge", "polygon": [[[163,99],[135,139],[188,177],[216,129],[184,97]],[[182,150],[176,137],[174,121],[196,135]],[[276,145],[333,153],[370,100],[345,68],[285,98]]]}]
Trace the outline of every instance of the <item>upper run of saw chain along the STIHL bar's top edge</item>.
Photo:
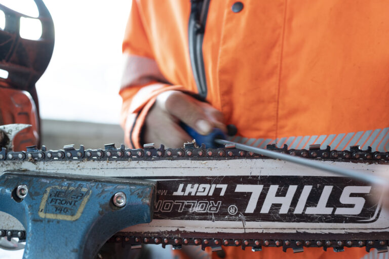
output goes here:
[{"label": "upper run of saw chain along the STIHL bar's top edge", "polygon": [[[389,152],[372,152],[371,147],[361,150],[359,146],[352,146],[350,150],[338,151],[331,150],[329,146],[326,149],[320,149],[320,145],[310,145],[309,149],[288,149],[287,145],[278,148],[276,144],[267,145],[266,149],[290,154],[293,156],[312,158],[330,161],[353,161],[353,162],[372,162],[386,163],[389,161]],[[164,145],[155,148],[153,144],[145,144],[143,149],[126,149],[122,144],[116,148],[114,144],[104,145],[104,149],[85,149],[83,145],[80,149],[75,149],[74,145],[64,146],[61,150],[47,150],[45,146],[41,150],[36,146],[27,147],[26,151],[7,151],[2,148],[0,151],[0,160],[17,161],[53,161],[53,160],[158,160],[158,159],[234,159],[234,158],[266,158],[253,152],[247,152],[237,149],[235,145],[226,144],[220,148],[208,148],[204,145],[198,147],[196,143],[185,143],[183,148],[165,149]]]}]

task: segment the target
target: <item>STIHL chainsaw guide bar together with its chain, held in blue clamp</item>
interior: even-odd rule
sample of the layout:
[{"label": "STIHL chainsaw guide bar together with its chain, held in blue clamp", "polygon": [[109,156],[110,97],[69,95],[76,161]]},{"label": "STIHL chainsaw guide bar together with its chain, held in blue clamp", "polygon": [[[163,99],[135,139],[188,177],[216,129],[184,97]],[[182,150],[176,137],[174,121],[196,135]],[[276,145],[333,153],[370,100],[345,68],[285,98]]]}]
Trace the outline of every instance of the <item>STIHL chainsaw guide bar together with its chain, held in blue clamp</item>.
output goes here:
[{"label": "STIHL chainsaw guide bar together with its chain, held in blue clamp", "polygon": [[[389,153],[372,152],[371,148],[353,146],[349,151],[336,151],[312,145],[308,150],[294,150],[268,145],[267,149],[372,175],[389,169]],[[109,144],[96,150],[68,145],[62,150],[28,147],[21,152],[3,148],[0,165],[3,174],[28,172],[64,179],[108,177],[157,183],[152,221],[106,237],[108,242],[132,248],[144,243],[173,245],[175,249],[198,245],[212,250],[240,246],[253,251],[262,247],[292,248],[294,252],[303,247],[387,251],[389,214],[382,207],[382,187],[267,158],[234,145],[206,149],[185,143],[181,149],[165,149],[146,144],[143,149],[126,149]],[[67,179],[60,186],[73,185]],[[87,186],[83,185],[84,193]],[[41,209],[53,206],[58,211],[51,213],[70,215],[73,212],[65,209],[79,201],[53,197],[49,195]],[[6,219],[0,214],[0,236],[24,241],[28,229],[7,229],[5,226],[13,224]]]}]

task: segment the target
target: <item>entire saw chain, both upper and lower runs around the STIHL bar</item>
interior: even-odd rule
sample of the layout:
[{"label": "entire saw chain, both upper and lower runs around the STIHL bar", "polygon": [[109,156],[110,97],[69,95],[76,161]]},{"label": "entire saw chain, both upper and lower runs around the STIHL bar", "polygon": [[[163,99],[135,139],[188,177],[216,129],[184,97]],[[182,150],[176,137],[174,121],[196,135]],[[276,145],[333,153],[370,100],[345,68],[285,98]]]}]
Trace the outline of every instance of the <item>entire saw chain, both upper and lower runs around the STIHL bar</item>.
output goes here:
[{"label": "entire saw chain, both upper and lower runs around the STIHL bar", "polygon": [[[331,150],[330,146],[320,149],[320,145],[310,145],[308,149],[288,149],[287,145],[278,148],[276,144],[267,145],[266,149],[290,154],[293,156],[327,160],[350,161],[364,163],[388,163],[389,152],[372,152],[371,147],[361,150],[359,146],[352,146],[349,151]],[[267,158],[265,156],[237,149],[233,144],[226,144],[220,148],[206,148],[197,146],[195,142],[185,143],[183,148],[165,149],[164,145],[155,148],[153,144],[145,144],[143,149],[126,149],[122,144],[116,148],[114,144],[104,145],[104,149],[75,149],[74,145],[64,146],[61,150],[47,150],[45,146],[38,150],[36,146],[27,147],[26,151],[7,151],[2,148],[0,160],[14,161],[55,161],[55,160],[96,160],[96,161],[127,161],[127,160],[162,160],[162,159],[197,159],[222,160],[239,158]],[[13,237],[24,241],[25,231],[0,230],[0,237]],[[366,251],[376,248],[378,252],[387,251],[388,240],[282,240],[282,239],[218,239],[218,238],[181,238],[181,237],[134,237],[120,232],[112,236],[108,242],[131,245],[131,248],[140,248],[141,244],[172,245],[173,249],[180,249],[182,245],[201,245],[204,250],[211,247],[213,251],[220,250],[221,246],[241,246],[244,250],[251,247],[253,251],[260,251],[262,247],[282,247],[283,251],[292,248],[294,252],[303,251],[303,247],[322,247],[324,250],[332,247],[334,251],[343,251],[344,247],[366,247]]]}]

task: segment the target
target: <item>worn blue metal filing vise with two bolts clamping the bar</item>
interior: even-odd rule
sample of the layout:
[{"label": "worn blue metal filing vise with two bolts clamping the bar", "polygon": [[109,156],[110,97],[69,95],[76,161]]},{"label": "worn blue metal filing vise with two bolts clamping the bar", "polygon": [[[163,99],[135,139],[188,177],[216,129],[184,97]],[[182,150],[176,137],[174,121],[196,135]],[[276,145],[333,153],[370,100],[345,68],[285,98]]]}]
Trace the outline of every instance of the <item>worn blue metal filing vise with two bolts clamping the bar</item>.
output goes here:
[{"label": "worn blue metal filing vise with two bolts clamping the bar", "polygon": [[126,226],[152,219],[155,183],[6,172],[0,210],[26,229],[23,258],[94,258]]}]

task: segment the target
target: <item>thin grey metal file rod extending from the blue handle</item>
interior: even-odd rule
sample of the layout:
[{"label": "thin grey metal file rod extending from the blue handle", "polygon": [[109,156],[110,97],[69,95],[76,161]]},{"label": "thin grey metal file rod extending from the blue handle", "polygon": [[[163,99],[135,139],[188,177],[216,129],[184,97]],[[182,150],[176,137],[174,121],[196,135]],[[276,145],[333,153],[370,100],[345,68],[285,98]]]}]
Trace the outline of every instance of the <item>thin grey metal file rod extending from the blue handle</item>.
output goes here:
[{"label": "thin grey metal file rod extending from the blue handle", "polygon": [[215,142],[217,144],[220,144],[220,145],[234,144],[238,149],[242,149],[242,150],[245,150],[248,152],[253,152],[253,153],[264,155],[267,157],[281,159],[281,160],[289,161],[292,163],[317,168],[317,169],[324,170],[324,171],[334,172],[335,174],[346,176],[346,177],[352,177],[352,178],[361,180],[361,181],[366,182],[366,183],[375,184],[375,185],[382,185],[382,186],[386,186],[386,187],[389,186],[388,179],[383,178],[383,177],[379,177],[379,176],[373,176],[371,174],[366,174],[364,172],[359,172],[359,171],[355,171],[355,170],[341,168],[341,167],[330,165],[327,163],[321,163],[321,162],[315,161],[315,160],[300,158],[300,157],[296,157],[296,156],[292,156],[292,155],[288,155],[288,154],[282,154],[282,153],[278,153],[275,151],[270,151],[270,150],[266,150],[263,148],[247,146],[244,144],[231,142],[231,141],[227,141],[227,140],[215,139]]}]

